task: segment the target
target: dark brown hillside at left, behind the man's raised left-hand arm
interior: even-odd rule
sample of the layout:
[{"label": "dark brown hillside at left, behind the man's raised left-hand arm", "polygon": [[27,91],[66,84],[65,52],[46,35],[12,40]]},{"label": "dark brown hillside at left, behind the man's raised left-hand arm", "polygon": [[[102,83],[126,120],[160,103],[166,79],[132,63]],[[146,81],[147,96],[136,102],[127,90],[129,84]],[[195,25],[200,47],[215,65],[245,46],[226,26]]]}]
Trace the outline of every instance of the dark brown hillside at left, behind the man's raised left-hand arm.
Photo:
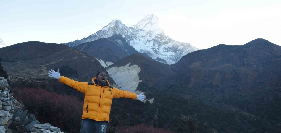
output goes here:
[{"label": "dark brown hillside at left, behind the man's raised left-hand arm", "polygon": [[[4,70],[11,78],[11,87],[40,87],[80,99],[84,98],[82,93],[51,79],[48,71],[60,69],[61,75],[81,82],[92,82],[97,72],[106,71],[94,57],[63,44],[18,43],[0,48],[0,57]],[[108,80],[115,85],[110,76]]]}]

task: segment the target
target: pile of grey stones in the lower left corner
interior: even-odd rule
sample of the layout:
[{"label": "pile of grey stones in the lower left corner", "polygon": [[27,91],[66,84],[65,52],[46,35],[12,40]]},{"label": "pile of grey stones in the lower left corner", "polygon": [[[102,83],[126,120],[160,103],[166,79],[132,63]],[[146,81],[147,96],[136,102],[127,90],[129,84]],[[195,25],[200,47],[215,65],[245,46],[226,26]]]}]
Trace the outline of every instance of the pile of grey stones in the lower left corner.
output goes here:
[{"label": "pile of grey stones in the lower left corner", "polygon": [[34,114],[23,111],[23,105],[10,93],[10,86],[4,77],[0,77],[0,133],[32,132],[63,133],[51,124],[40,124]]}]

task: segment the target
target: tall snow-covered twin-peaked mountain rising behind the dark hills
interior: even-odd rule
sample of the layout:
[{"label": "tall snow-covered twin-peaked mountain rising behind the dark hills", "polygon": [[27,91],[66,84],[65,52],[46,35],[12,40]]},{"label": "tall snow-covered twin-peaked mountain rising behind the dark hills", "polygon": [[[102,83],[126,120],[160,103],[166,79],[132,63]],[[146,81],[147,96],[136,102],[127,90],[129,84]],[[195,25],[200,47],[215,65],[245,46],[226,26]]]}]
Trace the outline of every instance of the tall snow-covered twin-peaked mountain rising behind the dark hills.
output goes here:
[{"label": "tall snow-covered twin-peaked mountain rising behind the dark hills", "polygon": [[138,52],[146,53],[153,59],[166,64],[174,64],[184,55],[199,50],[189,43],[182,43],[169,38],[158,25],[158,17],[154,14],[147,15],[131,27],[127,27],[120,20],[115,19],[95,34],[65,44],[73,47],[99,38],[108,38],[115,34],[121,34],[127,43]]}]

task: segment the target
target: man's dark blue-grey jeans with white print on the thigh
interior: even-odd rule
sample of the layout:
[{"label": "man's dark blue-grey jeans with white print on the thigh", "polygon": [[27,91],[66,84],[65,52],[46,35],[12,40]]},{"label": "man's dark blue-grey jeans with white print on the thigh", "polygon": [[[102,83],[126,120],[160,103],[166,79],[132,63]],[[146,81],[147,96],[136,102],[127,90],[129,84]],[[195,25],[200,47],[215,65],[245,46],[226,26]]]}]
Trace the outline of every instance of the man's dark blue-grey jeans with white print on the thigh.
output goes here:
[{"label": "man's dark blue-grey jeans with white print on the thigh", "polygon": [[105,133],[105,131],[106,131],[106,121],[83,119],[81,122],[80,133]]}]

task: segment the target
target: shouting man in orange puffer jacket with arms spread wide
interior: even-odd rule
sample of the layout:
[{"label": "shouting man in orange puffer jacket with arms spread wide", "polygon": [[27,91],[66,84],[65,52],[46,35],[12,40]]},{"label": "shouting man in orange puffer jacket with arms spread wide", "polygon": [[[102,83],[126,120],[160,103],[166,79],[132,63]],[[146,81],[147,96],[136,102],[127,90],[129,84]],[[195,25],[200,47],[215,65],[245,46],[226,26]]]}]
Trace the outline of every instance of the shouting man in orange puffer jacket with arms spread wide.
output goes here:
[{"label": "shouting man in orange puffer jacket with arms spread wide", "polygon": [[104,71],[98,72],[91,83],[78,82],[61,76],[59,69],[58,72],[51,69],[48,76],[85,93],[80,133],[105,133],[106,122],[109,122],[112,98],[131,98],[140,101],[146,98],[145,95],[142,95],[143,93],[136,95],[110,86]]}]

